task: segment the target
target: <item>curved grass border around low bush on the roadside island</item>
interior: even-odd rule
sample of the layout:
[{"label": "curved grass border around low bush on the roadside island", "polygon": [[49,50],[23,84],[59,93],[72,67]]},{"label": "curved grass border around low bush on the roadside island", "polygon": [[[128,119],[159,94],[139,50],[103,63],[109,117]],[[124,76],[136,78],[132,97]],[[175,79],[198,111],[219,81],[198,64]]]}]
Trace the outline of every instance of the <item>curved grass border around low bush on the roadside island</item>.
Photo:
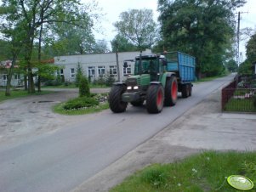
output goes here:
[{"label": "curved grass border around low bush on the roadside island", "polygon": [[84,114],[89,114],[89,113],[100,112],[101,110],[109,109],[109,104],[108,103],[99,104],[97,106],[88,107],[86,109],[78,109],[78,110],[65,110],[64,105],[65,105],[65,102],[54,105],[53,106],[53,111],[55,113],[59,113],[61,115],[77,116],[77,115],[84,115]]}]

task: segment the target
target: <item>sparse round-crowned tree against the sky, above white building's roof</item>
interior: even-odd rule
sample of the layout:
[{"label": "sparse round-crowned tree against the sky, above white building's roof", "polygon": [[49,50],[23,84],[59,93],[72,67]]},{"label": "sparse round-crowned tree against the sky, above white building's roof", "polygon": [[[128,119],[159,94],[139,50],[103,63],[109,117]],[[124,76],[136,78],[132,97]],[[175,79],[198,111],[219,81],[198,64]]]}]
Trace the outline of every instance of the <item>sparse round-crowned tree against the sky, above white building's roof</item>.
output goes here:
[{"label": "sparse round-crowned tree against the sky, above white building's roof", "polygon": [[121,37],[140,50],[151,48],[156,38],[156,22],[151,9],[131,9],[120,14],[114,26]]}]

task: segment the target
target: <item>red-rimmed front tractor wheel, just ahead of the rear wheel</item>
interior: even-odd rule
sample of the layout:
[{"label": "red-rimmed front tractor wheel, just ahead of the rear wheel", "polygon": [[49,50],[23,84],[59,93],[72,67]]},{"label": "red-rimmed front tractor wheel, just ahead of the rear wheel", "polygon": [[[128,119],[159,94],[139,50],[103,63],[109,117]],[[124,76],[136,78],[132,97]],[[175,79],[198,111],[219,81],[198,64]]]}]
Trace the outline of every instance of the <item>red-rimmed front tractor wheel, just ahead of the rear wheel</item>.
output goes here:
[{"label": "red-rimmed front tractor wheel, just ahead of the rear wheel", "polygon": [[149,113],[160,113],[163,107],[164,92],[162,85],[151,85],[146,94],[146,110]]}]

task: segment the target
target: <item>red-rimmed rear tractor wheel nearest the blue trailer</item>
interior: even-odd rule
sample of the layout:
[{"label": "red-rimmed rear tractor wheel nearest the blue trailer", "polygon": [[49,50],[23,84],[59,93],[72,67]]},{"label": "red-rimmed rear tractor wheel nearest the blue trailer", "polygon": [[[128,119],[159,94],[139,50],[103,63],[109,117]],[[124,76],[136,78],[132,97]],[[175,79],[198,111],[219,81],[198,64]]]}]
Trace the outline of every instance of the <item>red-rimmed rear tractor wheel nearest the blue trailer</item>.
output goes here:
[{"label": "red-rimmed rear tractor wheel nearest the blue trailer", "polygon": [[178,99],[178,82],[175,76],[168,78],[165,85],[165,106],[174,106]]}]

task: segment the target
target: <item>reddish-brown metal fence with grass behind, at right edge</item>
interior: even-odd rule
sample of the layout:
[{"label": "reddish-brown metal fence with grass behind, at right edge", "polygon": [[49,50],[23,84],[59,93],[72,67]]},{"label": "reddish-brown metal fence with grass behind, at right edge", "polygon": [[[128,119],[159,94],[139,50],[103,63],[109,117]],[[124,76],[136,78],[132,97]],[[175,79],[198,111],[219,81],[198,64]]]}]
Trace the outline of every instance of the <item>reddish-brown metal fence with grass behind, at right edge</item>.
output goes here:
[{"label": "reddish-brown metal fence with grass behind, at right edge", "polygon": [[237,88],[236,81],[233,81],[222,89],[221,96],[222,110],[256,112],[256,88]]}]

